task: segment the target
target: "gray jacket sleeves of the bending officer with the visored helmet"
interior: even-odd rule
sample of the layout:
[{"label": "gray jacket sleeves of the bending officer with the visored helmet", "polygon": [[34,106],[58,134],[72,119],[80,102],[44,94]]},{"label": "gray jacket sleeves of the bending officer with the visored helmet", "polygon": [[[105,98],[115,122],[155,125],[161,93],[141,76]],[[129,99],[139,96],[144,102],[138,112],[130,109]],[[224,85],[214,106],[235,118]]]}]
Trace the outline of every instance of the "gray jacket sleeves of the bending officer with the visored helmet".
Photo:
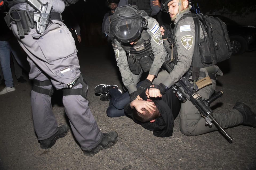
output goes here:
[{"label": "gray jacket sleeves of the bending officer with the visored helmet", "polygon": [[[149,74],[157,75],[160,67],[165,61],[165,56],[167,55],[167,52],[163,45],[158,22],[154,18],[151,18],[149,16],[144,16],[144,18],[148,21],[146,31],[150,35],[151,50],[154,55],[154,61],[151,65]],[[126,51],[122,48],[122,46],[116,39],[114,39],[112,45],[116,56],[117,66],[119,67],[119,71],[121,72],[123,84],[131,94],[132,92],[137,91],[136,84],[138,82],[134,82],[133,80],[133,73],[131,72],[128,65]]]}]

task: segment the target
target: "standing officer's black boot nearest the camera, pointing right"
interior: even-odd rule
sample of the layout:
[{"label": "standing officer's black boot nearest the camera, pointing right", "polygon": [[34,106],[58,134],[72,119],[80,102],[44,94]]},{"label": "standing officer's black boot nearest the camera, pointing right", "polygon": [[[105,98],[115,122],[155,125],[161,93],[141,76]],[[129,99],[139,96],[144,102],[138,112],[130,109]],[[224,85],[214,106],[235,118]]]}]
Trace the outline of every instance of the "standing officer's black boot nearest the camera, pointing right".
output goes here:
[{"label": "standing officer's black boot nearest the camera, pointing right", "polygon": [[95,146],[94,148],[85,151],[83,150],[83,153],[86,156],[93,156],[94,154],[97,154],[100,150],[102,149],[106,149],[109,148],[113,145],[115,145],[115,143],[118,140],[118,134],[116,131],[111,131],[109,133],[103,133],[103,138],[101,140],[101,142]]}]

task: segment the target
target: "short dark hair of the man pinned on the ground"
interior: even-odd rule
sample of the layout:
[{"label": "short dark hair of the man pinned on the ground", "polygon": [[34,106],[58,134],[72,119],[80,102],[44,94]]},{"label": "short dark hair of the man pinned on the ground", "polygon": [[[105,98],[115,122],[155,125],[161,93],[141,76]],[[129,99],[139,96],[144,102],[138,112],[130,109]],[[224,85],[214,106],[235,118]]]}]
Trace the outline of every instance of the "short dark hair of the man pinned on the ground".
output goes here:
[{"label": "short dark hair of the man pinned on the ground", "polygon": [[145,113],[141,114],[136,109],[134,109],[133,111],[134,118],[140,122],[148,122],[160,116],[160,113],[157,108],[155,108],[155,111],[153,111],[153,114],[151,114],[145,108],[142,108],[141,110],[145,111]]}]

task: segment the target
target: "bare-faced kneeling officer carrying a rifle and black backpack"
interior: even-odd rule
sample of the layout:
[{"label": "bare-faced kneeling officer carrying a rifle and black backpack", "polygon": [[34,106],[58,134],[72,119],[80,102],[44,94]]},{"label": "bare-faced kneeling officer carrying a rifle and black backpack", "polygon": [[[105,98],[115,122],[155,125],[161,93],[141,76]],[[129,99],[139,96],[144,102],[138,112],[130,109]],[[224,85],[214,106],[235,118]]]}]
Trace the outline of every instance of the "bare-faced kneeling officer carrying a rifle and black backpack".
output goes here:
[{"label": "bare-faced kneeling officer carrying a rifle and black backpack", "polygon": [[[173,40],[175,45],[173,49],[176,48],[178,58],[177,64],[174,66],[170,74],[165,71],[167,78],[162,82],[164,87],[170,88],[189,70],[189,67],[191,66],[195,50],[194,41],[196,30],[191,16],[182,18],[184,14],[190,13],[190,2],[188,0],[163,0],[162,6],[167,12],[169,12],[171,20],[174,22],[176,27],[176,31],[173,32],[173,35],[176,37]],[[161,34],[164,39],[164,44],[166,48],[168,48],[170,43],[167,40],[167,36],[165,35],[166,32],[163,27],[161,27]],[[200,28],[199,36],[200,39],[203,39],[202,28]],[[208,75],[211,78],[212,84],[198,91],[204,99],[209,99],[216,89],[216,74],[223,75],[223,73],[216,65],[200,68],[199,71],[198,80]],[[223,128],[238,124],[250,125],[256,128],[256,114],[251,111],[247,104],[242,102],[237,102],[233,109],[227,113],[213,113],[213,117],[216,118]],[[181,105],[180,129],[185,135],[199,135],[217,130],[217,127],[215,125],[211,128],[209,126],[205,126],[205,118],[203,118],[198,109],[189,100],[187,100]]]}]

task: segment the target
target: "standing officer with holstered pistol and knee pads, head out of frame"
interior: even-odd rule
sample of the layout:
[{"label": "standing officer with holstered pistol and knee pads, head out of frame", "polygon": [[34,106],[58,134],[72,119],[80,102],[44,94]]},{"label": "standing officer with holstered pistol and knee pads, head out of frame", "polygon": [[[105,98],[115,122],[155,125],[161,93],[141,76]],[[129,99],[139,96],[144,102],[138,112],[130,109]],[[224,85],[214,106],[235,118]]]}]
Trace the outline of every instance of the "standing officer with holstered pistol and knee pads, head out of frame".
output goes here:
[{"label": "standing officer with holstered pistol and knee pads, head out of frame", "polygon": [[75,42],[61,20],[65,2],[7,0],[5,4],[10,10],[5,19],[28,55],[29,78],[34,80],[31,91],[34,129],[41,148],[52,147],[69,131],[67,125],[58,127],[52,111],[51,95],[56,88],[63,90],[63,105],[75,138],[83,153],[92,156],[113,146],[118,134],[102,133],[88,107],[88,86],[80,72]]}]

